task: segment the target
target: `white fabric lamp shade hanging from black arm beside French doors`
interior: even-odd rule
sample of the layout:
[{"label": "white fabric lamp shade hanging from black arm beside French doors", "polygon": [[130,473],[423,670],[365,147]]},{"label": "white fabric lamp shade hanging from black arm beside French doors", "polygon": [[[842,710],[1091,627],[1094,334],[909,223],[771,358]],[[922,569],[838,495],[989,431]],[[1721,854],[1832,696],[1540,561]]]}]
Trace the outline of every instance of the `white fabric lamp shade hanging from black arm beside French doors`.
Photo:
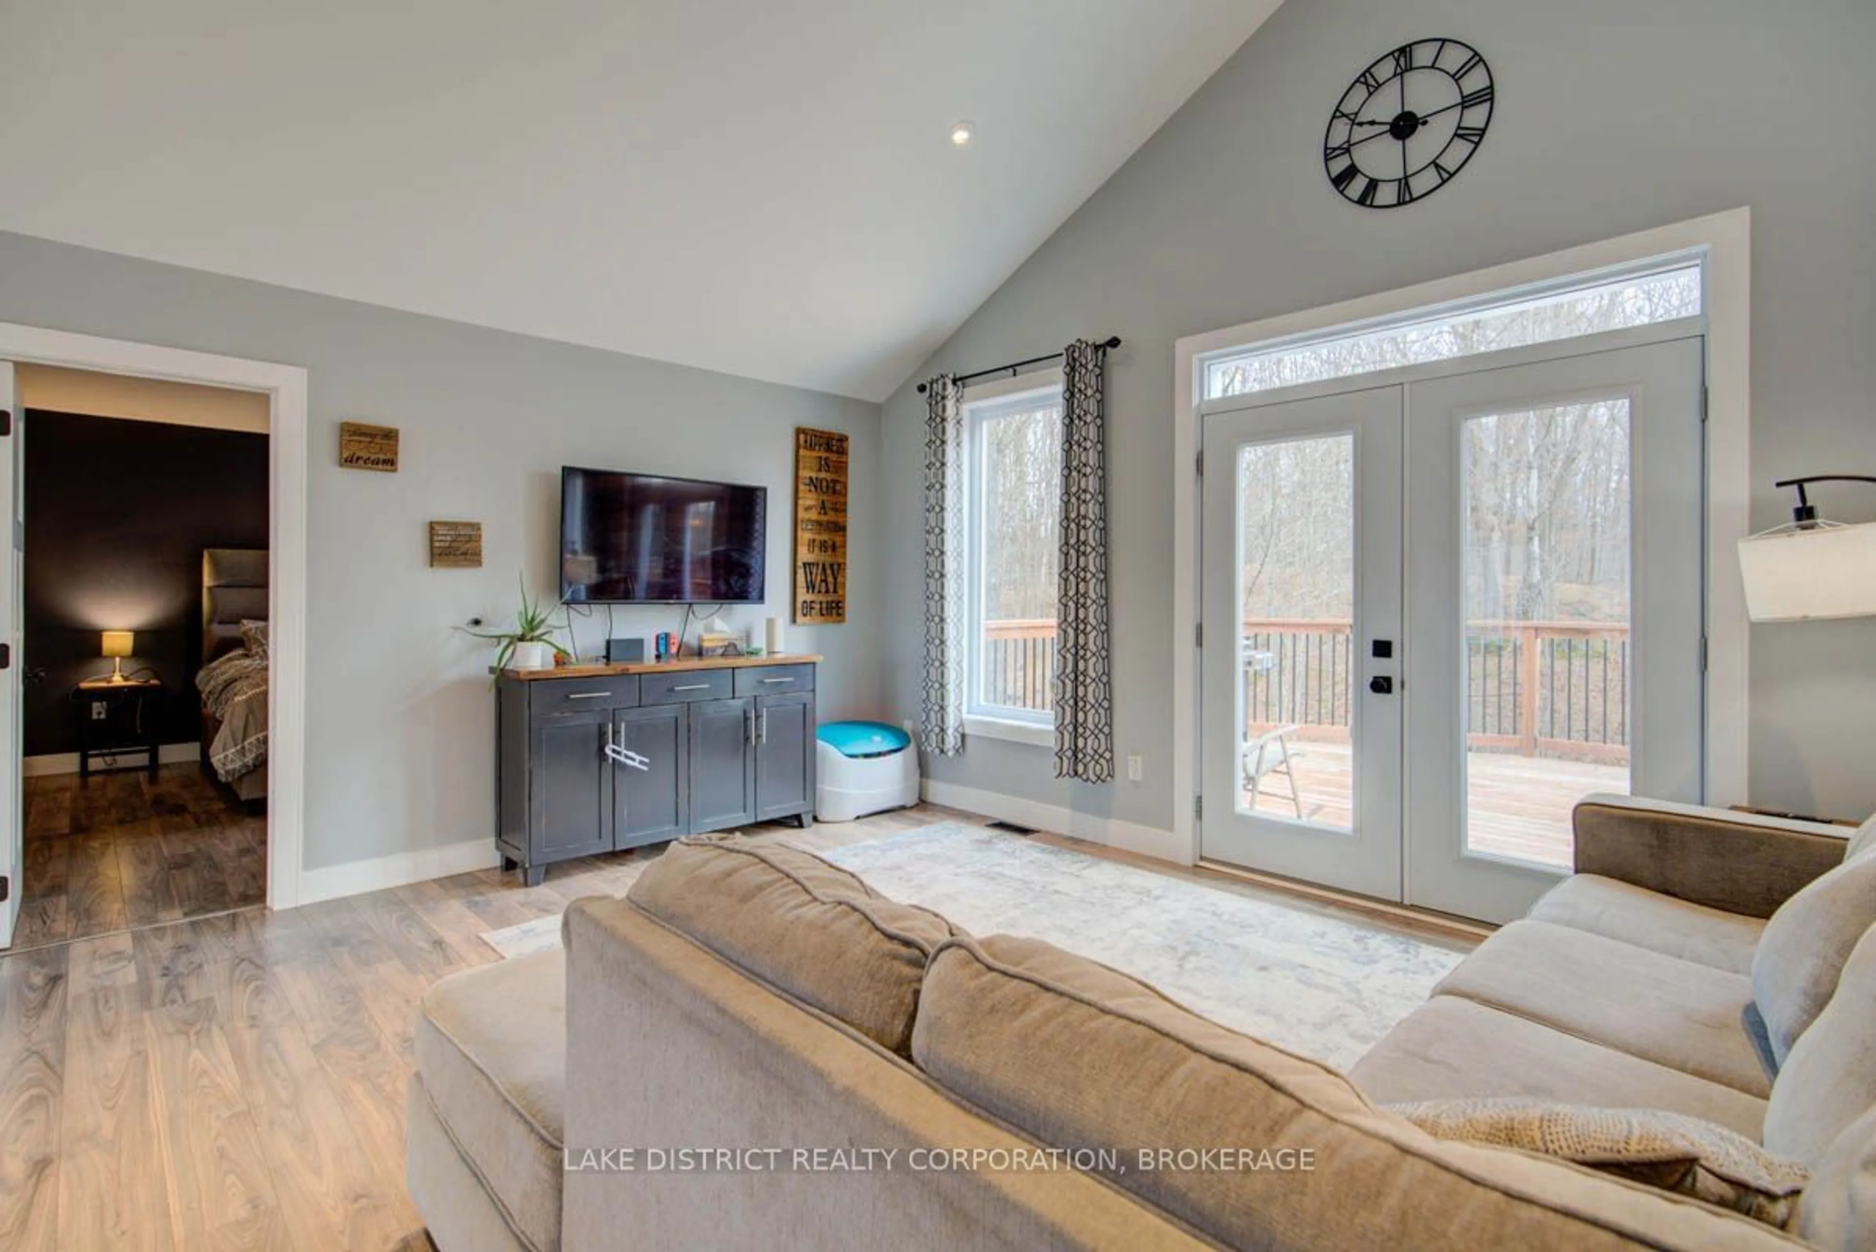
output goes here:
[{"label": "white fabric lamp shade hanging from black arm beside French doors", "polygon": [[1876,616],[1876,522],[1741,539],[1739,574],[1752,621]]}]

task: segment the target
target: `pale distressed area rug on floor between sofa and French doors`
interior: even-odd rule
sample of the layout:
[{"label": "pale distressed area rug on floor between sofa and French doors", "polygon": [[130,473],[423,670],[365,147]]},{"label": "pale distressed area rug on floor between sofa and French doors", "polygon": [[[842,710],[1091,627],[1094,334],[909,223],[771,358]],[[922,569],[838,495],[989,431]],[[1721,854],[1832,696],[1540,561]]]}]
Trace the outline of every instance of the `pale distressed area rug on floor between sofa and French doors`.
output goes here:
[{"label": "pale distressed area rug on floor between sofa and French doors", "polygon": [[[1338,1068],[1353,1066],[1463,955],[1463,944],[959,822],[816,852],[974,935],[1045,939]],[[559,918],[484,939],[505,955],[548,950],[559,944]]]}]

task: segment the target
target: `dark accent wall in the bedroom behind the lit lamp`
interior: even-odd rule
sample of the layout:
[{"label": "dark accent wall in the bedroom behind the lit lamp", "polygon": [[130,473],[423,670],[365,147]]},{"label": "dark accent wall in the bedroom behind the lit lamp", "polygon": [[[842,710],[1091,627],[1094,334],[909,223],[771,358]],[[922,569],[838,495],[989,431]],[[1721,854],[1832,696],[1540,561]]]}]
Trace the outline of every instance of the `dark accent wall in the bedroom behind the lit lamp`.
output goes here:
[{"label": "dark accent wall in the bedroom behind the lit lamp", "polygon": [[266,435],[26,411],[26,755],[77,751],[71,689],[124,672],[169,689],[163,743],[201,738],[203,548],[265,548]]}]

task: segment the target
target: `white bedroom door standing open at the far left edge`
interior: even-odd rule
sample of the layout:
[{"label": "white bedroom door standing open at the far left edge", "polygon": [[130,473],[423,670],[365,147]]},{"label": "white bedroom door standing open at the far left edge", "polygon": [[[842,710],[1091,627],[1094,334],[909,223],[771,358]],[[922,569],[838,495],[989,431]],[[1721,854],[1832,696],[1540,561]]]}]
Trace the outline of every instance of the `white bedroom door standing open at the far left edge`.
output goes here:
[{"label": "white bedroom door standing open at the far left edge", "polygon": [[24,441],[24,422],[19,409],[19,379],[13,364],[0,360],[0,413],[6,417],[6,437],[0,437],[0,877],[6,882],[6,899],[0,901],[0,948],[13,946],[13,927],[19,922],[21,895],[24,895],[26,871],[26,822],[21,802],[21,698],[19,676],[23,672],[19,655],[21,634],[21,445]]}]

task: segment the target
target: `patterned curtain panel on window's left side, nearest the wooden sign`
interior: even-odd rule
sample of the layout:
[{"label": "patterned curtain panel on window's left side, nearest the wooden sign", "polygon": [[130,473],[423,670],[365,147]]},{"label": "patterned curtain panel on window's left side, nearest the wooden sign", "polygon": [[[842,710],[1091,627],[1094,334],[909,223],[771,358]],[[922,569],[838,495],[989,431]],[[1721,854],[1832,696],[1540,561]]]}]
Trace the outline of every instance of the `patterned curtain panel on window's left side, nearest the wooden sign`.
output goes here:
[{"label": "patterned curtain panel on window's left side, nearest the wooden sign", "polygon": [[964,389],[925,385],[925,749],[964,751]]}]

